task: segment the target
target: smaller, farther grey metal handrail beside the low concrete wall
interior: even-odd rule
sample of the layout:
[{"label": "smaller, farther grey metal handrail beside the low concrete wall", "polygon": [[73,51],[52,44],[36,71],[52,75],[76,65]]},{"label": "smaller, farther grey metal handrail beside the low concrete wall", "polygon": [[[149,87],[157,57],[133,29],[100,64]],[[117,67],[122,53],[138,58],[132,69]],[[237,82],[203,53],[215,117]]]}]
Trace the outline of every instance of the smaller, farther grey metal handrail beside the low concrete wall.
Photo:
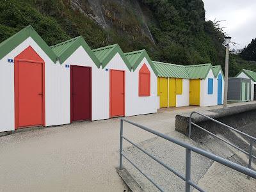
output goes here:
[{"label": "smaller, farther grey metal handrail beside the low concrete wall", "polygon": [[[199,125],[193,123],[193,122],[192,122],[192,115],[193,115],[194,113],[196,113],[196,114],[198,114],[198,115],[201,115],[201,116],[204,116],[205,118],[207,118],[207,119],[209,119],[209,120],[212,120],[213,122],[216,122],[217,124],[223,125],[224,127],[227,127],[228,129],[231,129],[232,131],[238,132],[239,134],[242,134],[243,136],[246,136],[247,138],[249,138],[249,139],[250,139],[250,151],[249,151],[249,152],[246,152],[246,151],[243,150],[242,148],[239,148],[239,147],[237,147],[236,145],[234,145],[234,144],[232,144],[232,143],[230,143],[230,142],[228,142],[228,141],[226,141],[226,140],[223,140],[223,138],[220,138],[220,137],[217,136],[216,134],[213,134],[212,132],[207,131],[207,130],[204,129],[203,127],[200,127]],[[256,157],[253,156],[253,154],[252,154],[253,143],[256,141],[256,138],[254,138],[253,136],[250,136],[250,134],[246,134],[246,133],[244,133],[244,132],[242,132],[242,131],[239,131],[239,130],[235,129],[234,127],[230,127],[229,125],[223,124],[223,123],[219,122],[218,120],[215,120],[214,118],[211,118],[211,117],[209,117],[209,116],[207,116],[207,115],[204,115],[204,114],[202,114],[202,113],[198,113],[198,112],[196,112],[196,111],[193,111],[193,112],[190,114],[190,116],[189,116],[189,129],[188,129],[188,136],[189,136],[189,138],[191,138],[191,125],[195,125],[196,127],[198,127],[199,129],[204,130],[205,132],[207,132],[207,133],[210,134],[211,136],[214,136],[214,137],[218,138],[219,140],[221,140],[221,141],[227,143],[228,145],[230,145],[230,146],[236,148],[237,150],[240,150],[241,152],[243,152],[244,154],[246,154],[247,156],[249,156],[248,168],[250,168],[250,169],[252,168],[252,158],[256,159]]]}]

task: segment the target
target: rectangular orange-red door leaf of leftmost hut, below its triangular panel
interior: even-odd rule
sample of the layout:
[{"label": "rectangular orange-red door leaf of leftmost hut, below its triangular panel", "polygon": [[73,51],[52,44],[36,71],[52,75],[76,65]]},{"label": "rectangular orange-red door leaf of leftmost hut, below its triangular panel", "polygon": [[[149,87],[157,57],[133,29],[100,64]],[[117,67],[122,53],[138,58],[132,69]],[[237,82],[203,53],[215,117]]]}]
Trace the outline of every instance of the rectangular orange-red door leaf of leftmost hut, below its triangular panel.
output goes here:
[{"label": "rectangular orange-red door leaf of leftmost hut, below its triangular panel", "polygon": [[43,64],[18,61],[18,127],[43,125]]}]

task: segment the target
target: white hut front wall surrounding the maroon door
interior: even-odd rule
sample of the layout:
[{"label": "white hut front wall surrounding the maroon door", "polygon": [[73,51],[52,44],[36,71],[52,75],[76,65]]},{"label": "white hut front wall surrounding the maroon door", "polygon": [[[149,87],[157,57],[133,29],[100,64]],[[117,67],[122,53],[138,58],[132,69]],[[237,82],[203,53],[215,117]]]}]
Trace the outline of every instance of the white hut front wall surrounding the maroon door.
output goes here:
[{"label": "white hut front wall surrounding the maroon door", "polygon": [[102,82],[103,70],[97,68],[83,47],[77,50],[61,64],[61,124],[70,124],[70,65],[92,68],[92,120],[109,118],[104,113],[106,106],[106,88]]}]

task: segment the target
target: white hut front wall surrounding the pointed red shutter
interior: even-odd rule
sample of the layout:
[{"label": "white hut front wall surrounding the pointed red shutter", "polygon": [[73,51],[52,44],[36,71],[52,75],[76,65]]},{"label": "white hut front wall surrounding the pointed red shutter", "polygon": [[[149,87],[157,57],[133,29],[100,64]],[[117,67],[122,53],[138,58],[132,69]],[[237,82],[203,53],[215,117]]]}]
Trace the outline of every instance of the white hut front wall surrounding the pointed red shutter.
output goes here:
[{"label": "white hut front wall surrounding the pointed red shutter", "polygon": [[[139,71],[143,64],[150,70],[150,96],[139,96]],[[129,73],[129,74],[128,74]],[[146,58],[140,62],[140,65],[134,72],[127,72],[127,102],[125,116],[142,115],[148,113],[157,113],[157,76],[150,67]]]}]

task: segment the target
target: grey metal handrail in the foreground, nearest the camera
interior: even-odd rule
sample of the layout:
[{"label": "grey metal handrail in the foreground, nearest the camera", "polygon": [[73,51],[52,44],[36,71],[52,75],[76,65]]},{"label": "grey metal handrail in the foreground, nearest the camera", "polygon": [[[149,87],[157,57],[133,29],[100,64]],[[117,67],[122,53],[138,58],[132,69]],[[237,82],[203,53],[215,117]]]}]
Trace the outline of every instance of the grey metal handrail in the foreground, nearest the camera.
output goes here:
[{"label": "grey metal handrail in the foreground, nearest the camera", "polygon": [[[139,127],[140,129],[143,129],[144,131],[150,132],[152,134],[155,134],[156,136],[159,136],[161,138],[163,138],[164,140],[168,140],[171,141],[172,143],[175,143],[177,145],[180,145],[181,147],[186,148],[186,173],[185,176],[180,174],[179,172],[175,171],[173,168],[171,168],[170,166],[168,166],[167,164],[164,164],[162,161],[160,161],[159,159],[157,159],[156,157],[152,156],[151,154],[149,154],[147,151],[143,150],[143,148],[139,147],[138,145],[136,145],[135,143],[133,143],[132,141],[130,141],[128,138],[125,138],[125,136],[123,135],[123,129],[124,129],[124,122],[127,122],[129,124],[132,124],[136,127]],[[229,168],[232,168],[233,170],[236,170],[237,172],[241,172],[244,173],[245,175],[248,175],[250,177],[253,177],[254,179],[256,179],[256,172],[254,170],[251,170],[249,168],[246,168],[244,166],[241,166],[240,164],[237,163],[233,163],[232,161],[229,161],[227,159],[224,159],[222,157],[216,156],[214,154],[211,154],[210,152],[207,152],[205,150],[202,150],[201,148],[197,148],[194,147],[192,145],[189,145],[188,143],[184,143],[183,141],[179,141],[175,138],[171,138],[170,136],[167,136],[166,134],[163,134],[161,132],[157,132],[154,131],[152,129],[149,129],[148,127],[145,127],[143,125],[140,124],[136,124],[134,122],[131,122],[129,120],[126,120],[124,118],[121,118],[121,122],[120,122],[120,162],[119,162],[119,169],[122,170],[123,168],[123,157],[125,159],[127,159],[127,161],[129,161],[129,163],[132,164],[132,166],[134,166],[142,175],[144,175],[148,180],[150,180],[150,182],[152,182],[152,184],[154,184],[154,186],[156,186],[157,189],[159,189],[160,191],[163,191],[163,189],[156,184],[156,182],[154,182],[153,179],[151,179],[147,174],[143,173],[143,171],[138,168],[138,166],[136,164],[134,164],[131,159],[129,159],[129,157],[127,157],[124,152],[123,152],[123,140],[128,141],[129,143],[131,143],[132,145],[134,145],[134,147],[140,149],[142,152],[144,152],[145,154],[147,154],[147,156],[151,157],[152,159],[154,159],[157,163],[161,164],[162,166],[164,166],[164,168],[170,170],[170,172],[174,173],[175,175],[177,175],[178,177],[180,177],[180,179],[184,180],[186,182],[186,192],[189,192],[191,189],[191,186],[193,186],[195,189],[197,189],[198,191],[204,191],[202,188],[200,188],[197,184],[195,184],[195,182],[193,182],[191,180],[191,151],[196,152],[197,154],[200,154],[204,157],[207,157],[209,159],[212,159],[213,161],[216,161],[218,163],[221,163],[225,166],[228,166]]]}]

